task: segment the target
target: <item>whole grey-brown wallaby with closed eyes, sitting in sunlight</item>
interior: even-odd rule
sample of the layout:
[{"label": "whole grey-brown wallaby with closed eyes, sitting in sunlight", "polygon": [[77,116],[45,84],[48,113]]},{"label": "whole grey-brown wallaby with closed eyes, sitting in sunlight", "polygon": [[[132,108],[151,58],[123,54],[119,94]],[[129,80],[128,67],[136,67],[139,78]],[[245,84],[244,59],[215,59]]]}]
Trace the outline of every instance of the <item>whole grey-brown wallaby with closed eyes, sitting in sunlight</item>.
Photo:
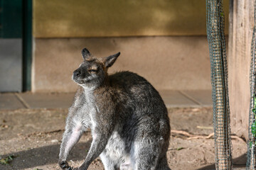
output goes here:
[{"label": "whole grey-brown wallaby with closed eyes, sitting in sunlight", "polygon": [[107,170],[169,169],[166,152],[171,128],[164,101],[137,74],[107,74],[119,55],[93,57],[86,48],[82,50],[84,61],[73,72],[80,88],[69,108],[60,146],[62,169],[73,169],[66,159],[87,128],[92,144],[85,162],[75,169],[87,169],[99,156]]}]

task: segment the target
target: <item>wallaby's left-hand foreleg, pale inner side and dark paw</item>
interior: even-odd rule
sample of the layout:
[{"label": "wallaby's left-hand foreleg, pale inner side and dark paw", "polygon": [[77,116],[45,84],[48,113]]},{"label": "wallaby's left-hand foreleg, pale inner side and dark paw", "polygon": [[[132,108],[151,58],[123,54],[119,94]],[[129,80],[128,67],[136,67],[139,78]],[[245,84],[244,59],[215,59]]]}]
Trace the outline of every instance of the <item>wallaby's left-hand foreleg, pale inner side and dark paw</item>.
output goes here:
[{"label": "wallaby's left-hand foreleg, pale inner side and dark paw", "polygon": [[63,140],[60,145],[59,164],[62,169],[71,170],[72,168],[66,161],[68,154],[75,144],[80,140],[82,136],[83,127],[82,123],[70,122],[66,125],[65,132],[63,134]]}]

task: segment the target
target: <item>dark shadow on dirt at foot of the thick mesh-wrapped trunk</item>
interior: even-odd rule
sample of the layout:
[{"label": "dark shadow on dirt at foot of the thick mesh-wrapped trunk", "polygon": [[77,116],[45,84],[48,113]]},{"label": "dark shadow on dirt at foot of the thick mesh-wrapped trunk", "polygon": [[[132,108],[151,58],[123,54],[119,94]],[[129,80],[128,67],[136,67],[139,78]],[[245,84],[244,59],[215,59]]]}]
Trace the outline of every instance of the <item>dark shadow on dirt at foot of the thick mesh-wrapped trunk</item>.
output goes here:
[{"label": "dark shadow on dirt at foot of the thick mesh-wrapped trunk", "polygon": [[[245,168],[247,160],[247,153],[242,154],[240,157],[233,159],[233,167],[234,168]],[[197,170],[212,170],[215,169],[215,164],[204,166]]]}]

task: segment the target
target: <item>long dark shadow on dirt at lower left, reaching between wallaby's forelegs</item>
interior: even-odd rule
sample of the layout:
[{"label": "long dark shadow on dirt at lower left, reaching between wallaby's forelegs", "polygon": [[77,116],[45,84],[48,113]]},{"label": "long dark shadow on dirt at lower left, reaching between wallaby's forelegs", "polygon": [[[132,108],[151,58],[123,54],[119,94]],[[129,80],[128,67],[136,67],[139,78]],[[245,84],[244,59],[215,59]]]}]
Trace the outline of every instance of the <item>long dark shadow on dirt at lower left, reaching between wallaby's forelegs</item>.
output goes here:
[{"label": "long dark shadow on dirt at lower left, reaching between wallaby's forelegs", "polygon": [[[75,148],[70,153],[68,160],[78,161],[85,159],[87,150],[90,148],[90,143],[91,140],[88,142],[80,142],[75,145]],[[59,151],[60,144],[37,147],[21,152],[1,155],[2,158],[14,155],[14,159],[10,162],[10,164],[0,164],[0,169],[28,169],[47,164],[58,164]]]}]

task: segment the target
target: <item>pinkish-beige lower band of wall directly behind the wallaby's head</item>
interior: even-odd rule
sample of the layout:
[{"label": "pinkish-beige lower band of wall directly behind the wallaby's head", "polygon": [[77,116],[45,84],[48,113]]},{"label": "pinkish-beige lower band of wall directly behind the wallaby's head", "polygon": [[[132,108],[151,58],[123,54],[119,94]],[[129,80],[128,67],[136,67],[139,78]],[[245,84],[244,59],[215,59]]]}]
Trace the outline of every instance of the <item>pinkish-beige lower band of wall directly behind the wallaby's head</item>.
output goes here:
[{"label": "pinkish-beige lower band of wall directly behind the wallaby's head", "polygon": [[156,89],[210,89],[206,37],[36,39],[33,91],[75,91],[81,50],[105,57],[121,52],[110,72],[129,70]]}]

